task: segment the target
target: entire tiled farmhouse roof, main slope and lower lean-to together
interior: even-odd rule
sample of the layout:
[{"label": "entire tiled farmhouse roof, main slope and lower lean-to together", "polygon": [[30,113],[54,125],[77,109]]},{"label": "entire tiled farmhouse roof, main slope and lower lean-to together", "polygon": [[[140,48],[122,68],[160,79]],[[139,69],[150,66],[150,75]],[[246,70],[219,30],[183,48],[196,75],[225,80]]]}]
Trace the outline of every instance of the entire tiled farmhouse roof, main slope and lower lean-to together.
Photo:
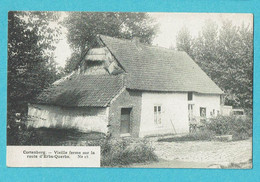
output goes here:
[{"label": "entire tiled farmhouse roof, main slope and lower lean-to together", "polygon": [[124,87],[141,91],[223,93],[185,52],[102,35],[100,40],[126,73],[71,74],[45,89],[37,103],[106,107]]}]

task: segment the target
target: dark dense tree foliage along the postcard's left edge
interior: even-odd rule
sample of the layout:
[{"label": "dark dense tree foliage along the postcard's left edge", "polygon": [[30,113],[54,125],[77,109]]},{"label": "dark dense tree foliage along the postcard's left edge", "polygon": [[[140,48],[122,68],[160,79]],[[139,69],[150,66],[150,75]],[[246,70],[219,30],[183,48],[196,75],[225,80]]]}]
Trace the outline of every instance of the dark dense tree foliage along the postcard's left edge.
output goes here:
[{"label": "dark dense tree foliage along the postcard's left edge", "polygon": [[8,117],[26,113],[27,103],[59,77],[53,60],[59,32],[49,26],[56,18],[51,12],[8,14]]}]

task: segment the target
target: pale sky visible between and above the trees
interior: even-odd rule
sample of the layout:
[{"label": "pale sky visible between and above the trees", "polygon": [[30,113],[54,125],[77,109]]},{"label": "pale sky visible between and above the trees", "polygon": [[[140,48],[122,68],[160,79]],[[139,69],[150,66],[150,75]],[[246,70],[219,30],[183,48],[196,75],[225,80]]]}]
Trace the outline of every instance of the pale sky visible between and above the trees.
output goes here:
[{"label": "pale sky visible between and above the trees", "polygon": [[[186,26],[191,35],[196,37],[201,31],[205,21],[213,20],[218,26],[221,26],[224,20],[231,20],[233,25],[253,26],[252,14],[238,13],[149,13],[158,24],[159,30],[152,44],[169,48],[176,46],[176,36],[182,27]],[[65,13],[62,15],[65,16]],[[67,58],[70,57],[72,50],[66,39],[66,29],[62,29],[60,42],[55,50],[55,61],[59,66],[64,67]]]}]

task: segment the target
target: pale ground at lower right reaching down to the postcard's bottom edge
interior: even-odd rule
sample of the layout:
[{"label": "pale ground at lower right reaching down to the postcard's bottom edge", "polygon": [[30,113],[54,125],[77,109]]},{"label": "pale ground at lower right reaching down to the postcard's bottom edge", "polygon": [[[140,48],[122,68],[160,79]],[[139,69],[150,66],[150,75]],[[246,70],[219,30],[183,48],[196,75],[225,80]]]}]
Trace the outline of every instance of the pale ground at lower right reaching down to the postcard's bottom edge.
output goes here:
[{"label": "pale ground at lower right reaching down to the postcard's bottom edge", "polygon": [[252,139],[218,142],[157,142],[155,153],[159,162],[134,164],[131,167],[156,168],[251,168]]}]

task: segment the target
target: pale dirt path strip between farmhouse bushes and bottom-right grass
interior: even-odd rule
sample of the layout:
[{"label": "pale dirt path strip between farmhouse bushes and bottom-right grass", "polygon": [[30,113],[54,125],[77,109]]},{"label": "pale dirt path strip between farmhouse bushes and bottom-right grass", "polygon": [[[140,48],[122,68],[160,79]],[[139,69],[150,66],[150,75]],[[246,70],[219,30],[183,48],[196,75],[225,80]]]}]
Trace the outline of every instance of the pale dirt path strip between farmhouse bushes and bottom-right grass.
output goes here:
[{"label": "pale dirt path strip between farmhouse bushes and bottom-right grass", "polygon": [[154,142],[155,153],[164,160],[241,163],[252,159],[252,140],[235,142]]}]

